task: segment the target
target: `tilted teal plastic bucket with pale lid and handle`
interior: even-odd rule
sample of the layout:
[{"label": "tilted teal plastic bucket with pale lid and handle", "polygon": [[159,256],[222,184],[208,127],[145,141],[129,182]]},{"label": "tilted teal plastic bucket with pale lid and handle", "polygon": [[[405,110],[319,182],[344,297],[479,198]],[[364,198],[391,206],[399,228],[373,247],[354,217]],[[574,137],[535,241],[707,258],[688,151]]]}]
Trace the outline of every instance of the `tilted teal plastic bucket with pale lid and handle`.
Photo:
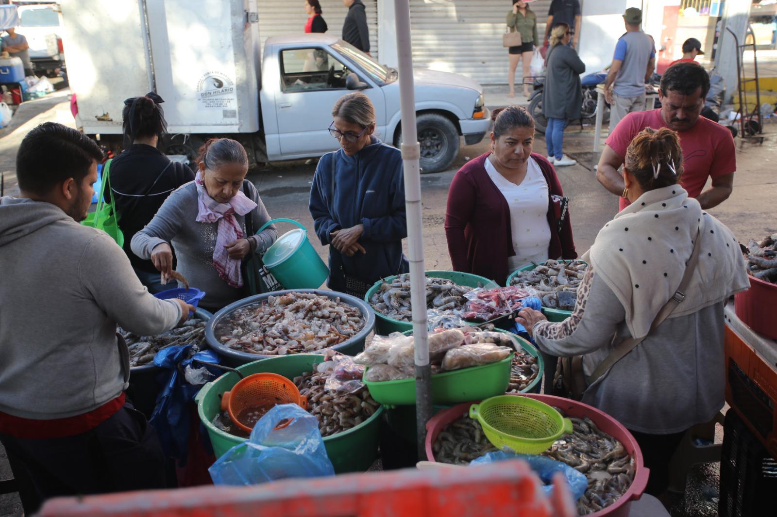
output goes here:
[{"label": "tilted teal plastic bucket with pale lid and handle", "polygon": [[262,261],[281,285],[286,289],[318,289],[329,276],[329,269],[315,252],[308,240],[308,231],[293,219],[272,219],[256,233],[270,224],[286,222],[298,228],[287,231],[264,252]]}]

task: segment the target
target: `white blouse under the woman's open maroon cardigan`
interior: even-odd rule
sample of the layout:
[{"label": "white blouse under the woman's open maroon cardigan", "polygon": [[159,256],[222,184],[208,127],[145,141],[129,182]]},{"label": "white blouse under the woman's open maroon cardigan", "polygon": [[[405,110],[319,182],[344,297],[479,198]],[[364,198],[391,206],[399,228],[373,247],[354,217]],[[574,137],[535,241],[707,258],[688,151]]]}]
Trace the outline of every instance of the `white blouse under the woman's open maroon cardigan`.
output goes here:
[{"label": "white blouse under the woman's open maroon cardigan", "polygon": [[545,176],[535,159],[529,158],[526,175],[519,185],[507,181],[488,158],[486,172],[510,207],[510,229],[515,255],[507,257],[509,272],[531,262],[548,260],[548,182],[545,182]]}]

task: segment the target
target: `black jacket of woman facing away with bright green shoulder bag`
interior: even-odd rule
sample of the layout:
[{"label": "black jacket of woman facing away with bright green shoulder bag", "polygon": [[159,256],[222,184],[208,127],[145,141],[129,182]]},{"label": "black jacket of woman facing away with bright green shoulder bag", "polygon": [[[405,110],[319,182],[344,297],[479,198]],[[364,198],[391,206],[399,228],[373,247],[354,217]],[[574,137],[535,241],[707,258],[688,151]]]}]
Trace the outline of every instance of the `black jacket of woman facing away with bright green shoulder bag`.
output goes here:
[{"label": "black jacket of woman facing away with bright green shoulder bag", "polygon": [[[183,163],[171,162],[170,158],[156,147],[133,144],[113,158],[109,174],[110,187],[119,213],[119,228],[124,233],[124,252],[134,268],[156,272],[157,269],[150,260],[143,260],[132,252],[130,242],[134,234],[152,220],[167,196],[179,186],[192,181],[194,173]],[[154,184],[157,177],[159,180]],[[147,192],[148,195],[145,195]],[[108,189],[104,197],[106,201],[110,201]]]}]

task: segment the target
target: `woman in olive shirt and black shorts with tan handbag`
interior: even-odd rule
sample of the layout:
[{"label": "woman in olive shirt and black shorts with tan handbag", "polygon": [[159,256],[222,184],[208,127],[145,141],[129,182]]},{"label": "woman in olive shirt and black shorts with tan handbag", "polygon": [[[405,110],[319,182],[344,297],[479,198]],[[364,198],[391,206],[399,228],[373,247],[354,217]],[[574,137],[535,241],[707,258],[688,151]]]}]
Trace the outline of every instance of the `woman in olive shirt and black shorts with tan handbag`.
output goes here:
[{"label": "woman in olive shirt and black shorts with tan handbag", "polygon": [[[510,85],[508,97],[515,96],[515,69],[518,61],[523,61],[524,78],[531,75],[531,56],[534,55],[537,38],[537,15],[529,9],[529,2],[513,0],[513,9],[507,12],[507,29],[502,44],[508,47],[510,70],[507,72],[507,84]],[[529,85],[524,82],[524,97],[529,96]]]}]

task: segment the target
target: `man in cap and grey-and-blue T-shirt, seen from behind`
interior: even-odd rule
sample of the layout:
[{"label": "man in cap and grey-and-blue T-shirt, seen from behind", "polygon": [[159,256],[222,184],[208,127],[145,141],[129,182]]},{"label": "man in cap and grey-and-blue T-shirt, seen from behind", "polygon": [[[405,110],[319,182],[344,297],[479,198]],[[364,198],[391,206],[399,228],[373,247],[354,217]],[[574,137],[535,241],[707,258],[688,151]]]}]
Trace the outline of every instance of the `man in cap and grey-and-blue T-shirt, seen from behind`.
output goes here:
[{"label": "man in cap and grey-and-blue T-shirt, seen from behind", "polygon": [[642,11],[629,7],[623,15],[626,32],[615,44],[605,81],[605,98],[611,106],[610,131],[632,111],[645,109],[645,83],[656,63],[653,38],[642,32]]}]

